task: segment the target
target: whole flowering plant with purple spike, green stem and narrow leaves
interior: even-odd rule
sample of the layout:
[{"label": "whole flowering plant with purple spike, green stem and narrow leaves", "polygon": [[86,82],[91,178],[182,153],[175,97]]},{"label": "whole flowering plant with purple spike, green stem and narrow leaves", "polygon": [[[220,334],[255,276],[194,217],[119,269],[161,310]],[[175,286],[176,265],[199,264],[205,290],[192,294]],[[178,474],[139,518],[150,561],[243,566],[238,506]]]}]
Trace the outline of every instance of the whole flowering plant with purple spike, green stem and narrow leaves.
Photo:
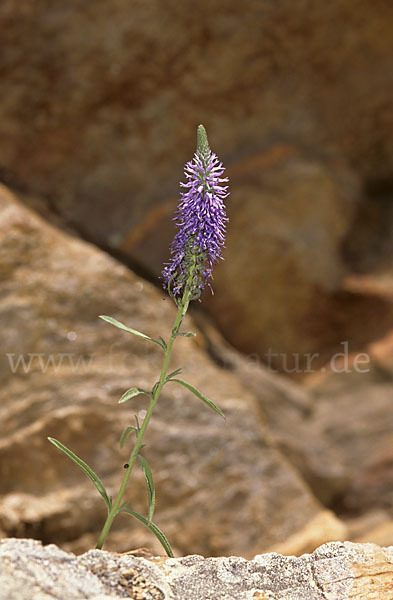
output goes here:
[{"label": "whole flowering plant with purple spike, green stem and narrow leaves", "polygon": [[[125,513],[142,522],[156,535],[168,556],[173,556],[167,538],[152,521],[155,508],[155,488],[150,465],[141,454],[144,435],[162,388],[169,382],[177,383],[192,392],[220,416],[224,416],[222,411],[211,400],[206,398],[189,383],[176,377],[181,372],[181,369],[176,369],[176,371],[168,374],[172,346],[176,338],[178,336],[191,337],[195,335],[191,332],[180,331],[188,306],[192,300],[200,299],[201,292],[206,284],[211,289],[209,280],[212,278],[213,265],[222,258],[225,225],[228,220],[224,206],[224,198],[228,196],[228,186],[225,185],[228,179],[222,177],[223,173],[224,167],[222,163],[209,148],[206,130],[203,125],[199,125],[197,150],[193,159],[185,166],[187,181],[180,184],[186,191],[181,193],[174,218],[178,231],[171,245],[170,262],[164,266],[162,273],[164,287],[177,306],[177,314],[169,340],[165,341],[161,336],[151,338],[140,331],[123,325],[123,323],[112,317],[101,315],[101,319],[104,321],[158,345],[164,352],[161,373],[152,389],[144,390],[139,387],[132,387],[124,392],[119,400],[119,403],[126,402],[139,394],[144,394],[149,398],[149,406],[143,423],[140,423],[138,417],[135,416],[135,425],[126,427],[120,438],[120,447],[123,447],[131,433],[135,434],[136,441],[128,462],[124,465],[125,473],[115,499],[113,500],[112,496],[108,496],[98,475],[81,458],[76,456],[74,452],[58,440],[48,438],[52,444],[64,452],[82,469],[104,499],[108,515],[96,546],[99,549],[102,548],[116,515]],[[127,483],[136,460],[138,460],[142,468],[147,484],[147,517],[127,509],[128,502],[123,501]]]}]

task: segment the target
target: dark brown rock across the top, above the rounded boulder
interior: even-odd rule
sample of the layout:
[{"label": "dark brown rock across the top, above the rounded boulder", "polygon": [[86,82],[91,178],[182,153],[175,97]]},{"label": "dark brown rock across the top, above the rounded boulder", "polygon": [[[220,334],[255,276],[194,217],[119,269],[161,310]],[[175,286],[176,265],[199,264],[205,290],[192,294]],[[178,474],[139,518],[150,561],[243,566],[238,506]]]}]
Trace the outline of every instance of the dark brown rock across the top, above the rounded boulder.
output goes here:
[{"label": "dark brown rock across the top, above the rounded boulder", "polygon": [[0,151],[5,176],[90,235],[122,237],[177,193],[196,113],[234,160],[297,140],[390,176],[391,7],[203,0],[190,21],[173,0],[132,18],[126,0],[70,6],[2,6]]}]

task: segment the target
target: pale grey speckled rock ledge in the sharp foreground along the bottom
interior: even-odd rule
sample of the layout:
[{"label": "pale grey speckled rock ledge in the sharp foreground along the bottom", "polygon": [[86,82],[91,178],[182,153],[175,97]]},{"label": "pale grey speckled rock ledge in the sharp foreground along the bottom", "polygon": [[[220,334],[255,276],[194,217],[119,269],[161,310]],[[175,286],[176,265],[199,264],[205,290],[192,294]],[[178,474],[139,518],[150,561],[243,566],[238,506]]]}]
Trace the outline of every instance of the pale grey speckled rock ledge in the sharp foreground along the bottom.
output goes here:
[{"label": "pale grey speckled rock ledge in the sharp foreground along the bottom", "polygon": [[372,600],[393,598],[392,548],[330,543],[300,558],[277,553],[139,558],[91,550],[82,556],[33,540],[0,542],[1,600]]}]

